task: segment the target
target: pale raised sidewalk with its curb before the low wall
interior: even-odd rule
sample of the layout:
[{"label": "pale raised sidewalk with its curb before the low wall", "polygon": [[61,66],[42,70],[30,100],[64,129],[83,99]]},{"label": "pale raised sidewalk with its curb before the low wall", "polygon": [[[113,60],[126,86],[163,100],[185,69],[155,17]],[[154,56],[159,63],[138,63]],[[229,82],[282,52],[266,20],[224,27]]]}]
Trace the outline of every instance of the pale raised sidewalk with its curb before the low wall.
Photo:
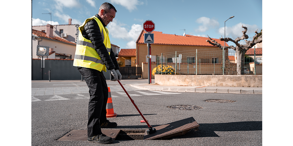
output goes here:
[{"label": "pale raised sidewalk with its curb before the low wall", "polygon": [[209,92],[209,93],[238,93],[262,94],[262,87],[220,87],[220,86],[164,86],[159,84],[126,84],[135,88],[171,92]]}]

